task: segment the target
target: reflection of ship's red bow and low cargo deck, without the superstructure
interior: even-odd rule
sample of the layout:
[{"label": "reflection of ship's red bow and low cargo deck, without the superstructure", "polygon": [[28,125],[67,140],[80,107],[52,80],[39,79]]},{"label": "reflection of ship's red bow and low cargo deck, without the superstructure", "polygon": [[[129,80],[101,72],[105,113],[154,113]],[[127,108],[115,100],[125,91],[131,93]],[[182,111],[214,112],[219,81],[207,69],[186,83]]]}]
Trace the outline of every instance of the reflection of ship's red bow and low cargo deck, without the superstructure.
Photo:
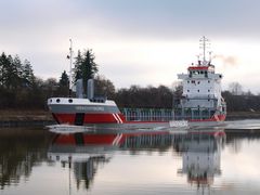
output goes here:
[{"label": "reflection of ship's red bow and low cargo deck, without the superstructure", "polygon": [[[170,147],[169,131],[110,131],[95,133],[56,134],[48,151],[50,160],[73,169],[77,188],[83,183],[88,190],[99,167],[108,164],[114,152]],[[70,178],[69,178],[70,180]]]}]

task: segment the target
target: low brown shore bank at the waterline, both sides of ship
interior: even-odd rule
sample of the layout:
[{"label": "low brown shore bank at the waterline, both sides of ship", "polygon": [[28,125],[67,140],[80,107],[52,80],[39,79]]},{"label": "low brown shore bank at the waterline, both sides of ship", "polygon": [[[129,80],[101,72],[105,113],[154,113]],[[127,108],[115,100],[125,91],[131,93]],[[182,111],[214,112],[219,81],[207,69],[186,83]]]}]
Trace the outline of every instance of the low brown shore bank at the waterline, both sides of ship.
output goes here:
[{"label": "low brown shore bank at the waterline, both sides of ship", "polygon": [[[260,119],[260,112],[229,112],[226,120]],[[0,127],[29,127],[55,123],[49,110],[0,110]]]}]

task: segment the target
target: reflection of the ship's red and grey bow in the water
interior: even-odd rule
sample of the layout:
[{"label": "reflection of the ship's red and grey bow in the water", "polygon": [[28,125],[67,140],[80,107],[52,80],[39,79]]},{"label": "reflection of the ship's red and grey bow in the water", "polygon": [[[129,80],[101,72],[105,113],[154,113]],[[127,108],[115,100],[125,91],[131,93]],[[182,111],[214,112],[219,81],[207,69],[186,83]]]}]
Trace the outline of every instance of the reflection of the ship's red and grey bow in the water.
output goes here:
[{"label": "reflection of the ship's red and grey bow in the water", "polygon": [[[90,187],[100,166],[109,162],[117,134],[56,134],[48,151],[50,160],[61,161],[62,167],[74,169],[77,188]],[[70,176],[69,176],[70,181]]]}]

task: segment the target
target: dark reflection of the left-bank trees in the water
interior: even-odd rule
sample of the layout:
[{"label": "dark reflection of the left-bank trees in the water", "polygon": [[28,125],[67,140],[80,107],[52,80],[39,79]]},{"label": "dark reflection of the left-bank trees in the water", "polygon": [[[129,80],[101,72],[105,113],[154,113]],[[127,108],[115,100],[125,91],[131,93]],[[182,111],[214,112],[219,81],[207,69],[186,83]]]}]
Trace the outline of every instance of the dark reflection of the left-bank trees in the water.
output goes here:
[{"label": "dark reflection of the left-bank trees in the water", "polygon": [[43,130],[1,129],[0,131],[0,186],[27,180],[32,167],[47,159],[51,134]]}]

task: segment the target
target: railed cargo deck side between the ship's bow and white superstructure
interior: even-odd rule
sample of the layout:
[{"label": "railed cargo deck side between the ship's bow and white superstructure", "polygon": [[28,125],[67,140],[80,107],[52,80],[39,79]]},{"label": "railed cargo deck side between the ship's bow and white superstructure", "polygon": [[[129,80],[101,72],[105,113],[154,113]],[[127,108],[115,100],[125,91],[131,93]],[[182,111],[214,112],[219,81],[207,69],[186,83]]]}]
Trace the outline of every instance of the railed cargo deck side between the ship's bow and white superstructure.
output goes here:
[{"label": "railed cargo deck side between the ship's bow and white superstructure", "polygon": [[127,121],[169,121],[173,110],[169,108],[121,108]]}]

